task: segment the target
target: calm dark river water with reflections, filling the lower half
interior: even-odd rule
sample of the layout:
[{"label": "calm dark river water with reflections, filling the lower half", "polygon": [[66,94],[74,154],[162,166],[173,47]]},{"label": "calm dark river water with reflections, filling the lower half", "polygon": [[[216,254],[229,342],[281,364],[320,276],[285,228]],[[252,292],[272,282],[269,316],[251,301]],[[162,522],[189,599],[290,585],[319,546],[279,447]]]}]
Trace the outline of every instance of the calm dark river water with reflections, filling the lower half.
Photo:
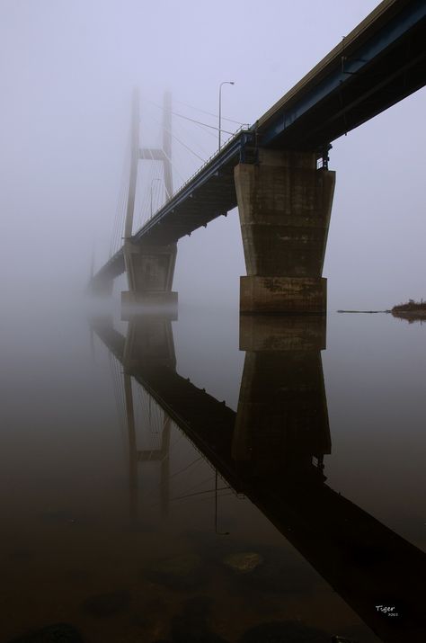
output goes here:
[{"label": "calm dark river water with reflections, filling the lower half", "polygon": [[120,317],[4,313],[0,640],[424,640],[426,325]]}]

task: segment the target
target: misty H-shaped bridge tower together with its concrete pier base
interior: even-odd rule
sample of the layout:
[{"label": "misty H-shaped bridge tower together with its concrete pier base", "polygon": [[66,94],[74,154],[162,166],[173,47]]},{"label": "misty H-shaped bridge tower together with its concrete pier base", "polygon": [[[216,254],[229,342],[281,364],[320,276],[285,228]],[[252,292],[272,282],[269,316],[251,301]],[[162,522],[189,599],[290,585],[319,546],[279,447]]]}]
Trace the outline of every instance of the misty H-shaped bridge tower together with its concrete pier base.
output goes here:
[{"label": "misty H-shaped bridge tower together with its concrete pier base", "polygon": [[124,263],[129,290],[121,293],[121,302],[124,305],[176,304],[177,292],[172,291],[172,286],[177,245],[132,243],[139,160],[162,163],[166,197],[169,199],[173,194],[172,95],[169,92],[164,94],[163,148],[140,147],[139,121],[139,97],[135,91],[131,118],[129,197],[124,227]]}]

